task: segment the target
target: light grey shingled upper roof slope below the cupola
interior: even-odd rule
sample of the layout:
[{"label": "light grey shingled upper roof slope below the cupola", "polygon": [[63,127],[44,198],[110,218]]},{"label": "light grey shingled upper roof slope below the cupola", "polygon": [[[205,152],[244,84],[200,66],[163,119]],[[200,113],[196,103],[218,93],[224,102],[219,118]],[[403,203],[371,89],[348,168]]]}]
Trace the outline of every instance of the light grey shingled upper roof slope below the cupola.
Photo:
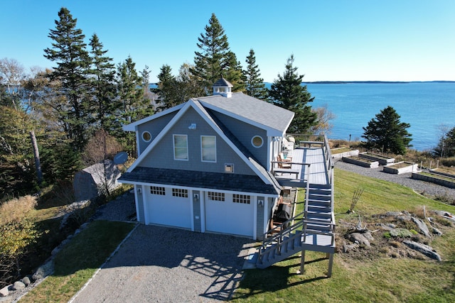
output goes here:
[{"label": "light grey shingled upper roof slope below the cupola", "polygon": [[215,111],[222,111],[223,114],[233,114],[237,119],[254,122],[282,133],[287,130],[292,118],[294,118],[294,112],[292,111],[241,92],[232,93],[230,98],[215,95],[200,97],[197,100],[203,106]]}]

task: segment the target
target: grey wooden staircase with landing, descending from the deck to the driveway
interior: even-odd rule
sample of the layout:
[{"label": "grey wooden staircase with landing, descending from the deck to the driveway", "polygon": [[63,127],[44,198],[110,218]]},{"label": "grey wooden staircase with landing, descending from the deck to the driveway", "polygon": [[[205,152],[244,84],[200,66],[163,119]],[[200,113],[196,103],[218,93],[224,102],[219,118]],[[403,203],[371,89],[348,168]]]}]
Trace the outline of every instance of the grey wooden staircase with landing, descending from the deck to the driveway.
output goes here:
[{"label": "grey wooden staircase with landing, descending from the deck to the driveway", "polygon": [[[287,224],[288,228],[282,228]],[[264,235],[255,258],[256,267],[267,268],[301,252],[303,272],[305,250],[314,250],[327,253],[330,277],[335,252],[333,184],[307,184],[305,210],[282,226],[277,226]]]}]

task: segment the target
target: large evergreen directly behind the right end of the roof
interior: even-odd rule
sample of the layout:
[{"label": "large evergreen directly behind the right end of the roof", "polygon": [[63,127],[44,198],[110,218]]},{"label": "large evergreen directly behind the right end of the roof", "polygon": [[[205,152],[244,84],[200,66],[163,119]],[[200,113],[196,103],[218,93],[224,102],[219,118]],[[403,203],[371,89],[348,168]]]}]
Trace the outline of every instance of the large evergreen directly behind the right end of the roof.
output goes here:
[{"label": "large evergreen directly behind the right end of the roof", "polygon": [[290,133],[305,133],[311,126],[315,126],[317,115],[307,105],[314,100],[306,90],[306,85],[301,85],[304,75],[297,73],[297,67],[293,66],[294,55],[287,60],[286,70],[283,75],[278,75],[269,90],[272,103],[289,111],[294,111],[295,116],[288,128]]}]

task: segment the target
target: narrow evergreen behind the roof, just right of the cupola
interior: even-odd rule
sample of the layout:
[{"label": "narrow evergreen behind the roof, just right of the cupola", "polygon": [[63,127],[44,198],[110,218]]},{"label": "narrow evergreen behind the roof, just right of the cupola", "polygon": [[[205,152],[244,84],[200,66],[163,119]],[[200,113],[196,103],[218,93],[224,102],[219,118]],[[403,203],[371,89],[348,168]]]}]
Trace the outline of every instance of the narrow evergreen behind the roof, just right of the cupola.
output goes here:
[{"label": "narrow evergreen behind the roof, just right of the cupola", "polygon": [[264,79],[261,78],[259,67],[256,64],[255,51],[250,50],[250,55],[247,56],[247,69],[243,71],[245,75],[245,92],[248,96],[257,99],[267,99],[267,88],[264,85]]}]

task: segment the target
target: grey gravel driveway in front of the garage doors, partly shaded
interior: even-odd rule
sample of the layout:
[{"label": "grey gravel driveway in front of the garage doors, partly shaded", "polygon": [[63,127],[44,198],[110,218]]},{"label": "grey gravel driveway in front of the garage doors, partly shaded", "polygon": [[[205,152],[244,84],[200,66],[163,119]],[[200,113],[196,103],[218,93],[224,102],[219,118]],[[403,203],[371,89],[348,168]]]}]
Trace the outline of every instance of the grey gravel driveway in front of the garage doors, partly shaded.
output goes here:
[{"label": "grey gravel driveway in front of the garage doors, partly shaded", "polygon": [[[131,197],[109,202],[97,219],[125,216]],[[73,302],[227,300],[253,245],[248,238],[139,224]]]}]

